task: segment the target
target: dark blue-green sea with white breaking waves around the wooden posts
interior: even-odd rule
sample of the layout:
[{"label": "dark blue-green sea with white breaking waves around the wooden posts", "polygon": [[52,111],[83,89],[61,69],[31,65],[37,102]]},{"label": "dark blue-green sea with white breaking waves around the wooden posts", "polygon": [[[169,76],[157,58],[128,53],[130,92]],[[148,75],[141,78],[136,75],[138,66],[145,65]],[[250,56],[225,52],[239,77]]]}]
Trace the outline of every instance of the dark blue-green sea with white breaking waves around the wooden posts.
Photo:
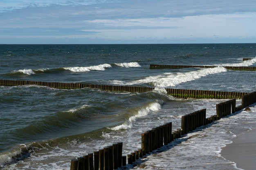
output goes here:
[{"label": "dark blue-green sea with white breaking waves around the wooden posts", "polygon": [[[150,64],[218,67],[150,69]],[[117,142],[123,142],[127,156],[141,148],[141,133],[168,122],[173,131],[180,129],[183,115],[206,109],[208,118],[226,100],[174,98],[165,88],[256,91],[256,72],[222,66],[255,67],[256,44],[2,44],[0,79],[155,89],[0,86],[0,168],[69,170],[72,159]],[[119,169],[239,169],[221,150],[232,138],[256,129],[256,107],[249,107]]]}]

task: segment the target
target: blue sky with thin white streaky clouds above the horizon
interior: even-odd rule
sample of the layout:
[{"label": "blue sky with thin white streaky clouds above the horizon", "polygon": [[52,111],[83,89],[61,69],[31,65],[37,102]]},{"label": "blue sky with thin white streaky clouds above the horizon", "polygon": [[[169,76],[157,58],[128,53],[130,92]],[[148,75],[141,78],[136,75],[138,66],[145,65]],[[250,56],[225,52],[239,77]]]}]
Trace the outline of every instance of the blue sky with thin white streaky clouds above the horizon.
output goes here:
[{"label": "blue sky with thin white streaky clouds above the horizon", "polygon": [[256,0],[0,0],[0,44],[256,43]]}]

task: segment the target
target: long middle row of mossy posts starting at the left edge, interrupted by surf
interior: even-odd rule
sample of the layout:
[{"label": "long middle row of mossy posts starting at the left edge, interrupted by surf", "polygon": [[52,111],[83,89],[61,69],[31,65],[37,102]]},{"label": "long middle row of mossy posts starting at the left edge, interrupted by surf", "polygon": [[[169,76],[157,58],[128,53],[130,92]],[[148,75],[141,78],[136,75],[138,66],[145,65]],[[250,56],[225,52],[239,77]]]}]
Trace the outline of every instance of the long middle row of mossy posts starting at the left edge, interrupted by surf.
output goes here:
[{"label": "long middle row of mossy posts starting at the left edge, interrupted by surf", "polygon": [[[59,89],[79,89],[79,88],[96,88],[107,91],[118,92],[150,92],[154,87],[134,87],[134,86],[116,86],[116,85],[93,85],[83,83],[57,83],[41,81],[22,81],[22,80],[0,80],[0,85],[41,85]],[[167,89],[166,92],[175,98],[215,98],[215,99],[241,99],[247,93],[244,92],[221,92],[210,90],[193,90],[193,89]]]}]

